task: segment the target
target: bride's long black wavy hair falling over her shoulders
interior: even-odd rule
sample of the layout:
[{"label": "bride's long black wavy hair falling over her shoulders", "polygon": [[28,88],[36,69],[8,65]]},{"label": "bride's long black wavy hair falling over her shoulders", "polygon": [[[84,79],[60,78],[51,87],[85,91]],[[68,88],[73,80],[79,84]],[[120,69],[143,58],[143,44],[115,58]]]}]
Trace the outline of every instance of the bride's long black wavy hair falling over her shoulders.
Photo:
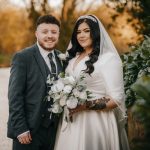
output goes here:
[{"label": "bride's long black wavy hair falling over her shoulders", "polygon": [[[93,17],[93,16],[91,16]],[[94,18],[95,19],[95,18]],[[68,50],[68,60],[74,58],[77,54],[77,52],[81,53],[84,51],[83,47],[80,46],[77,40],[77,30],[81,23],[87,23],[90,28],[90,35],[92,38],[92,53],[89,55],[89,60],[85,62],[87,68],[84,70],[86,73],[91,74],[94,71],[94,63],[98,60],[98,56],[100,53],[100,29],[97,20],[95,21],[89,19],[89,18],[83,18],[76,22],[76,25],[74,27],[72,37],[71,37],[71,43],[72,48]]]}]

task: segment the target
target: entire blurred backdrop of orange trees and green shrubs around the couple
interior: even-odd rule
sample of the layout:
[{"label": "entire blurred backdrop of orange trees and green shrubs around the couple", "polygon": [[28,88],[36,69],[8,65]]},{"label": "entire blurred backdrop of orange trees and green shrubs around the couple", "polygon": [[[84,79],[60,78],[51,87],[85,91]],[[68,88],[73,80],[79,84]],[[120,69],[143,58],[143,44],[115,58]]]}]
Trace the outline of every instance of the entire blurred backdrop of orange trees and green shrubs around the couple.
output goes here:
[{"label": "entire blurred backdrop of orange trees and green shrubs around the couple", "polygon": [[[16,1],[16,0],[14,0]],[[57,48],[65,52],[76,19],[94,14],[104,24],[124,64],[131,150],[150,149],[150,0],[0,0],[0,67],[36,42],[35,23],[52,14],[61,21]]]}]

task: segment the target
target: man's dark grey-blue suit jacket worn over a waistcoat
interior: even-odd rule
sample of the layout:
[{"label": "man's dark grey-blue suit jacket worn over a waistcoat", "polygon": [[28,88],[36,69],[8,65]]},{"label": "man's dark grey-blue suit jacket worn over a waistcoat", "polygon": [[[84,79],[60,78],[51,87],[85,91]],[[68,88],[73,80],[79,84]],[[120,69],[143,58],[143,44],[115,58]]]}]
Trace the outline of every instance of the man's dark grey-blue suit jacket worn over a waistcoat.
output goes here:
[{"label": "man's dark grey-blue suit jacket worn over a waistcoat", "polygon": [[[60,72],[59,53],[55,50]],[[43,107],[47,94],[47,68],[36,44],[17,52],[13,57],[8,90],[8,137],[16,138],[28,130],[35,133],[43,122],[44,109],[47,109]]]}]

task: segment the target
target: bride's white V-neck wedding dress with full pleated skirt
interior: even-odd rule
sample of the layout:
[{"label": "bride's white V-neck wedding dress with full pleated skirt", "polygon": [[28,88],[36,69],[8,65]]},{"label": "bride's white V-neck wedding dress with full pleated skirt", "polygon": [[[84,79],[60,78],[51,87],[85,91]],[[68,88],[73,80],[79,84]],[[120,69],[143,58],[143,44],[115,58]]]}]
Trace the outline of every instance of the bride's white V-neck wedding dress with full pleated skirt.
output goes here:
[{"label": "bride's white V-neck wedding dress with full pleated skirt", "polygon": [[[85,61],[89,59],[86,56],[74,67],[77,57],[70,60],[66,69],[75,78],[86,69]],[[104,54],[94,63],[94,72],[85,78],[93,100],[110,96],[119,103],[124,99],[120,69],[122,66],[111,53]],[[55,150],[121,150],[119,132],[122,131],[118,129],[117,119],[115,110],[82,111],[74,114],[72,123],[67,123],[63,118],[57,132]],[[128,150],[128,145],[123,149]]]}]

